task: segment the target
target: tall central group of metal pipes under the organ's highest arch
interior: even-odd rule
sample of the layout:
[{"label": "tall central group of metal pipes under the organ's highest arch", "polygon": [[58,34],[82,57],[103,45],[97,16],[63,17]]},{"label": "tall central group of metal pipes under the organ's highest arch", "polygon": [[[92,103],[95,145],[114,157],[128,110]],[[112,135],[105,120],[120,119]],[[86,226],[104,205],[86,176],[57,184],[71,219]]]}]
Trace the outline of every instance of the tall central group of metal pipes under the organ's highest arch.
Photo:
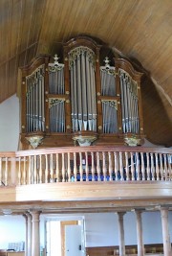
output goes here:
[{"label": "tall central group of metal pipes under the organ's highest arch", "polygon": [[69,53],[74,131],[97,130],[95,54],[84,46]]}]

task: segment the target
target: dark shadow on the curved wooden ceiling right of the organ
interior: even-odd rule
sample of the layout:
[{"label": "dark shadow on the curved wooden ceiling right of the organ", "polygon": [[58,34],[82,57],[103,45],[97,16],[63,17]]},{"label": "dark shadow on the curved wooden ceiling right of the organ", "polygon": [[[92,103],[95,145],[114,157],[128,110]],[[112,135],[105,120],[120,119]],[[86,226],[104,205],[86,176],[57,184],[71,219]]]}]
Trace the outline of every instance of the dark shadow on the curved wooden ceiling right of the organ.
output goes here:
[{"label": "dark shadow on the curved wooden ceiling right of the organ", "polygon": [[135,58],[130,58],[135,68],[143,72],[141,78],[141,98],[144,133],[153,144],[172,146],[171,105],[151,80],[150,74]]}]

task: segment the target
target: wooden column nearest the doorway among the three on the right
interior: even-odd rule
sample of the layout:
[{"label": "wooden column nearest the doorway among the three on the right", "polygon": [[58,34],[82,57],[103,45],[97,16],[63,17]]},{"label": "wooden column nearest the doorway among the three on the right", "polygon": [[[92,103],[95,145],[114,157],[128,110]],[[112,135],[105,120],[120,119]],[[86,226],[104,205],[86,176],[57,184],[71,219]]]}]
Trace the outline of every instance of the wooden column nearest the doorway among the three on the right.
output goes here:
[{"label": "wooden column nearest the doorway among the three on the right", "polygon": [[125,255],[125,241],[124,241],[124,227],[123,216],[124,212],[118,212],[118,244],[119,244],[119,256]]}]

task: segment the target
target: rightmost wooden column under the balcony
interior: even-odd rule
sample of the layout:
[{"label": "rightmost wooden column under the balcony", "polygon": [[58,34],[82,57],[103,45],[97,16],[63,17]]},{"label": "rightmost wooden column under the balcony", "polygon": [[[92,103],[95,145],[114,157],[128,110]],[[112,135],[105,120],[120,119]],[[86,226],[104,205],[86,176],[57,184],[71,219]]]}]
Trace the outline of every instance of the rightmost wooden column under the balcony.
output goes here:
[{"label": "rightmost wooden column under the balcony", "polygon": [[171,243],[168,228],[168,209],[161,208],[161,228],[162,228],[162,238],[163,238],[163,254],[165,256],[171,256]]}]

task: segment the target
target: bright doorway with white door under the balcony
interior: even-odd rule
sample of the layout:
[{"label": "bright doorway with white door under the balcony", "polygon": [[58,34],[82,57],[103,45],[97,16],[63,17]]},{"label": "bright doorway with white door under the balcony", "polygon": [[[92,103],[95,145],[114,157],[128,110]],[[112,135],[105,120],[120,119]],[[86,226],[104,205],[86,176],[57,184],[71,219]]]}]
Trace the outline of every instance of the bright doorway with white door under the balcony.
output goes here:
[{"label": "bright doorway with white door under the balcony", "polygon": [[47,256],[85,256],[84,218],[47,218]]}]

